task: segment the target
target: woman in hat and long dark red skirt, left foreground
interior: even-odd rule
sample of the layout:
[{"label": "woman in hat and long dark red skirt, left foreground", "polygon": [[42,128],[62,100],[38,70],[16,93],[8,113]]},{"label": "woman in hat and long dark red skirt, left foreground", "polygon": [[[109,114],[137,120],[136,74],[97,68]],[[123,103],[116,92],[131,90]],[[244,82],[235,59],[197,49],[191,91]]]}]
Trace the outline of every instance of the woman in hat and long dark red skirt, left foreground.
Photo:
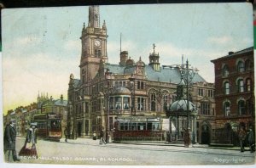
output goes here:
[{"label": "woman in hat and long dark red skirt, left foreground", "polygon": [[38,152],[36,148],[37,143],[37,123],[33,122],[30,128],[26,132],[26,140],[24,146],[20,149],[20,156],[31,156],[34,159],[38,159]]}]

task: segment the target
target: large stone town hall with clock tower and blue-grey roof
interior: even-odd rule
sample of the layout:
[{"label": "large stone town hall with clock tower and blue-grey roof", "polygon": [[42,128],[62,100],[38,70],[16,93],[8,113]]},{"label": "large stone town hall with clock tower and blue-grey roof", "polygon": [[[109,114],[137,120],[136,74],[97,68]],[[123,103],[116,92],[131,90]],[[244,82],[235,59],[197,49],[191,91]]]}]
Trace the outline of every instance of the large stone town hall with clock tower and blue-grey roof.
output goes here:
[{"label": "large stone town hall with clock tower and blue-grey roof", "polygon": [[[104,130],[112,137],[113,133],[126,135],[127,140],[163,140],[170,128],[166,109],[176,100],[177,84],[181,82],[180,67],[161,67],[155,46],[148,64],[141,58],[134,61],[128,51],[120,52],[119,64],[108,63],[107,25],[104,21],[101,26],[99,19],[99,7],[90,6],[89,23],[84,25],[80,38],[80,79],[71,74],[68,84],[67,126],[71,137],[91,137],[93,132],[99,135]],[[198,73],[193,83],[191,98],[196,104],[201,100],[209,103],[206,114],[212,120],[214,101],[198,96],[198,90],[213,92],[213,84]],[[214,121],[203,119],[210,125]],[[197,122],[200,130],[202,120]]]}]

